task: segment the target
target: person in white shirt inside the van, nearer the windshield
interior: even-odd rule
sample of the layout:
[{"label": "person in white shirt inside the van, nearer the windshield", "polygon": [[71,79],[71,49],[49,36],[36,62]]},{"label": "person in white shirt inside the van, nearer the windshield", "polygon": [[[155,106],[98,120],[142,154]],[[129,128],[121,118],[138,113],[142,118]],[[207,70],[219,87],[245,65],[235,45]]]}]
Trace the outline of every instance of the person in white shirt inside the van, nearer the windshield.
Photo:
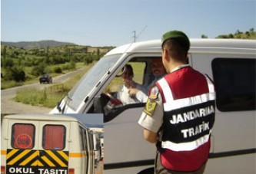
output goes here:
[{"label": "person in white shirt inside the van, nearer the windshield", "polygon": [[123,78],[124,84],[122,84],[118,90],[118,100],[120,100],[123,103],[123,105],[139,103],[139,100],[137,98],[130,97],[130,95],[128,94],[129,89],[137,87],[138,85],[134,80],[132,80],[134,74],[131,64],[125,65],[125,72],[121,75],[121,77]]}]

